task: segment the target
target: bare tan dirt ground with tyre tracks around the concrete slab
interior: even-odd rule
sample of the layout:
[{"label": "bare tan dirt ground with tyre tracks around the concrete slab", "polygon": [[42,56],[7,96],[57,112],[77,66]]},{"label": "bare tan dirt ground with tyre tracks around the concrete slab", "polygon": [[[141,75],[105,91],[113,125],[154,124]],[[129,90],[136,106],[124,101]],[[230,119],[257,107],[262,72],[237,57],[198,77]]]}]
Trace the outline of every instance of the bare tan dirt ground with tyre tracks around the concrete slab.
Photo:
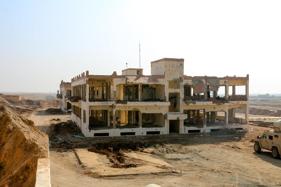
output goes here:
[{"label": "bare tan dirt ground with tyre tracks around the concrete slab", "polygon": [[[44,110],[44,109],[40,109]],[[59,118],[60,121],[50,121]],[[52,115],[33,112],[29,119],[52,138],[56,125],[67,124],[70,115]],[[257,124],[258,125],[258,124]],[[62,126],[66,127],[66,125]],[[253,128],[253,129],[252,129]],[[170,134],[150,136],[99,137],[75,140],[70,144],[57,143],[50,138],[50,168],[53,187],[69,186],[145,186],[156,183],[160,186],[281,186],[281,160],[271,157],[270,152],[257,154],[253,139],[268,127],[249,125],[247,133],[217,131],[205,134]],[[73,135],[75,129],[69,128]],[[67,136],[60,135],[65,138]],[[78,163],[73,148],[110,147],[127,148],[139,145],[145,151],[160,157],[183,173],[143,174],[116,177],[95,177],[85,166]],[[126,169],[126,168],[124,168]]]}]

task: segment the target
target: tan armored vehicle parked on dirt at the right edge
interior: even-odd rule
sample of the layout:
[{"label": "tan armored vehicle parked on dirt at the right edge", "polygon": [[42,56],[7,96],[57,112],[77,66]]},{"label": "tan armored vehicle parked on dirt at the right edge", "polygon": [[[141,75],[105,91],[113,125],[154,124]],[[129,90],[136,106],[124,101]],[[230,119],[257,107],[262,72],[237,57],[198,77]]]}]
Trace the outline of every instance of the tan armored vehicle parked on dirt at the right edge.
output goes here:
[{"label": "tan armored vehicle parked on dirt at the right edge", "polygon": [[273,158],[281,158],[281,120],[277,120],[273,123],[273,131],[264,131],[262,136],[257,136],[254,140],[254,150],[257,153],[261,152],[261,149],[272,151]]}]

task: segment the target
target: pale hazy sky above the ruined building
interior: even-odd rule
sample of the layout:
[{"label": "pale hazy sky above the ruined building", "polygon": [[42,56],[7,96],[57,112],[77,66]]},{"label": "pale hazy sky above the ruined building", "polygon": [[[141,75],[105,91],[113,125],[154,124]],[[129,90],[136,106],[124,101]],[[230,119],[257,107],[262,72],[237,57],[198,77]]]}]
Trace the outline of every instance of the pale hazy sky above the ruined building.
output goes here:
[{"label": "pale hazy sky above the ruined building", "polygon": [[0,1],[0,92],[49,92],[184,58],[190,76],[250,76],[281,93],[281,1]]}]

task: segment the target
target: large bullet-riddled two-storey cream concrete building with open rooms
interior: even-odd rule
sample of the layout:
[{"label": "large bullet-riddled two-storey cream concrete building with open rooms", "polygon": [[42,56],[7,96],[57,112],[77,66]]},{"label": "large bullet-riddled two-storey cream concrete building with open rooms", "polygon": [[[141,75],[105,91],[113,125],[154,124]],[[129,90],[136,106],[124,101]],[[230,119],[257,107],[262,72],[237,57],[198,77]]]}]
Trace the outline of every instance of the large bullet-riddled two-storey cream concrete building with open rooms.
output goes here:
[{"label": "large bullet-riddled two-storey cream concrete building with open rooms", "polygon": [[[243,95],[236,95],[237,86]],[[151,75],[132,68],[122,75],[83,72],[71,79],[68,102],[86,137],[247,131],[249,75],[191,77],[184,75],[184,59],[163,58],[151,62]],[[236,108],[245,114],[237,116]]]}]

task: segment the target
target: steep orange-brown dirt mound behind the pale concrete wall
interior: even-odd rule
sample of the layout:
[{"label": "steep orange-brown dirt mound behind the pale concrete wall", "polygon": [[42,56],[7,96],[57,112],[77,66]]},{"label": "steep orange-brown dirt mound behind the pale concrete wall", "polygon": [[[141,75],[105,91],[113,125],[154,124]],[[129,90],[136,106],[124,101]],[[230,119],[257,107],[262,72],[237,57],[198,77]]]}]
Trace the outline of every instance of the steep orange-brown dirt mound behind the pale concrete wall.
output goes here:
[{"label": "steep orange-brown dirt mound behind the pale concrete wall", "polygon": [[48,157],[47,140],[33,121],[0,105],[0,186],[34,186],[37,160]]}]

